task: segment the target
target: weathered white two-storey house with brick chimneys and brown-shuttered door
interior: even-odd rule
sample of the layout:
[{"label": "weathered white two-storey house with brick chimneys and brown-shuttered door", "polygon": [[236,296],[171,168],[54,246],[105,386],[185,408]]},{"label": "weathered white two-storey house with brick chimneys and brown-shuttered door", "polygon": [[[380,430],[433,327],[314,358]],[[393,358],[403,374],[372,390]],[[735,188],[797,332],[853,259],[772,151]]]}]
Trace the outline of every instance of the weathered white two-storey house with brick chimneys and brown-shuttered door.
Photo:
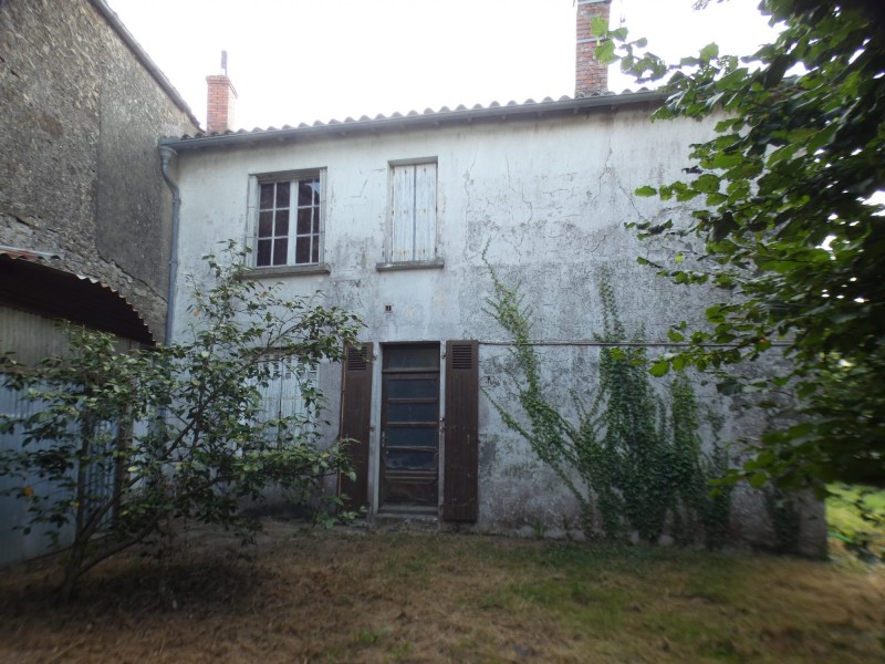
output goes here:
[{"label": "weathered white two-storey house with brick chimneys and brown-shuttered door", "polygon": [[[357,479],[340,489],[371,518],[424,515],[509,532],[575,522],[562,483],[492,405],[512,403],[512,361],[488,313],[490,267],[521,284],[543,378],[563,402],[594,380],[602,273],[650,352],[668,346],[671,322],[702,319],[702,292],[638,266],[656,248],[624,226],[687,216],[683,204],[633,191],[689,177],[688,146],[712,127],[652,124],[660,94],[607,92],[586,33],[589,13],[607,10],[605,0],[577,2],[574,97],[160,141],[176,162],[183,273],[200,273],[206,248],[232,238],[252,248],[256,279],[293,297],[322,291],[363,318],[361,345],[343,367],[317,367],[317,380],[333,396],[326,438],[358,442]],[[212,79],[232,103],[229,81]],[[181,293],[175,334],[186,307]],[[715,391],[700,397],[721,415],[723,438],[762,425]],[[771,541],[763,504],[738,496],[735,539]],[[802,550],[822,551],[820,506],[805,505],[798,528]]]}]

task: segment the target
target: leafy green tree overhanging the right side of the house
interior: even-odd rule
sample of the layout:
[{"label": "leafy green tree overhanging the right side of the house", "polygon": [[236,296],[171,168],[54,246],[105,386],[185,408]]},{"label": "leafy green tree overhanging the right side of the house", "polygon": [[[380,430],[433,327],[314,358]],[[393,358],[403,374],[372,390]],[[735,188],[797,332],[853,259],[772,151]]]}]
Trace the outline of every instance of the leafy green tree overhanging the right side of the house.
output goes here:
[{"label": "leafy green tree overhanging the right side of the house", "polygon": [[[696,236],[702,251],[652,263],[722,298],[674,364],[723,369],[780,347],[790,369],[730,392],[798,396],[792,426],[768,432],[742,469],[754,485],[842,480],[885,486],[885,9],[879,2],[763,0],[782,31],[752,55],[715,44],[668,66],[620,40],[605,53],[641,81],[665,80],[657,118],[716,121],[693,146],[696,167],[641,196],[695,201],[691,224],[638,225],[644,237]],[[602,27],[598,27],[600,30]],[[643,262],[650,262],[641,259]]]}]

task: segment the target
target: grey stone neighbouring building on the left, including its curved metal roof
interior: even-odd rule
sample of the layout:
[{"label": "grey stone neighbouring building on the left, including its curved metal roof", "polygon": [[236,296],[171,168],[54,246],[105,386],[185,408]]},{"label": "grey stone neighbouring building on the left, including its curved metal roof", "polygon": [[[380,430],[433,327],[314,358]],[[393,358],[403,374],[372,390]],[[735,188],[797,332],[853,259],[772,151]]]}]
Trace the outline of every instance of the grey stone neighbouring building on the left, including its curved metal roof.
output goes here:
[{"label": "grey stone neighbouring building on the left, including its curved metal roof", "polygon": [[[173,247],[156,143],[197,121],[103,0],[3,0],[0,27],[0,351],[63,354],[56,320],[154,345]],[[33,407],[0,387],[3,413]],[[45,551],[25,522],[0,497],[0,564]]]}]

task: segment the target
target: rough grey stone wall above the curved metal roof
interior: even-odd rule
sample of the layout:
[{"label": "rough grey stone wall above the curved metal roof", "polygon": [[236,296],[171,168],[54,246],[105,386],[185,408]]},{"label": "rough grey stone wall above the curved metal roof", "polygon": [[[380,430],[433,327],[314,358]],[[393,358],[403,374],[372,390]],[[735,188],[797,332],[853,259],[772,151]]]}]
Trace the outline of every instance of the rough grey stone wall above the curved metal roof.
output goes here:
[{"label": "rough grey stone wall above the curved metal roof", "polygon": [[88,0],[4,0],[0,24],[0,245],[60,253],[163,339],[171,197],[156,141],[192,132],[189,110]]}]

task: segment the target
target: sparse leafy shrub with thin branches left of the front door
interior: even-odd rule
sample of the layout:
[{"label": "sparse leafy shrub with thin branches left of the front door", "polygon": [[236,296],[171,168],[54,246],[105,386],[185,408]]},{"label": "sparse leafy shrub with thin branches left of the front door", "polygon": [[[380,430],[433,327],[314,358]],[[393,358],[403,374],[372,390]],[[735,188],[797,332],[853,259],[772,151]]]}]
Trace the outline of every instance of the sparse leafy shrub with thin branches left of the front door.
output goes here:
[{"label": "sparse leafy shrub with thin branches left of the front door", "polygon": [[[250,280],[232,243],[222,259],[206,257],[208,286],[190,278],[187,339],[127,353],[108,334],[71,326],[69,355],[6,375],[40,407],[0,421],[22,440],[0,455],[0,473],[19,479],[12,492],[31,523],[55,527],[56,542],[72,529],[64,599],[102,560],[169,535],[173,519],[243,527],[242,499],[279,486],[305,500],[346,469],[337,445],[317,446],[322,394],[305,378],[341,359],[357,319]],[[269,417],[261,388],[283,372],[312,407]]]}]

